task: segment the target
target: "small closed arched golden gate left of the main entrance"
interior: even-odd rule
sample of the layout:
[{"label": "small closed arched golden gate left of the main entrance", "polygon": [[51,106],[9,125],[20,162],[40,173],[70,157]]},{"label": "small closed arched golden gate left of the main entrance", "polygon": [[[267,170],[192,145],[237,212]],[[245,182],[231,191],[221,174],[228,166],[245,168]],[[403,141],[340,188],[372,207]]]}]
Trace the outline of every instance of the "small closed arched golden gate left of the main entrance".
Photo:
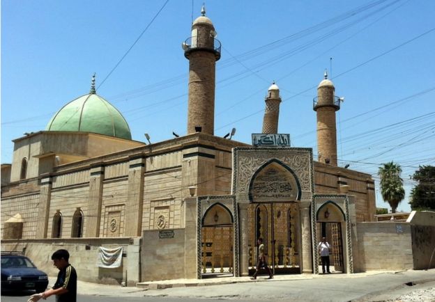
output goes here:
[{"label": "small closed arched golden gate left of the main entrance", "polygon": [[201,276],[234,274],[233,216],[215,203],[201,221]]}]

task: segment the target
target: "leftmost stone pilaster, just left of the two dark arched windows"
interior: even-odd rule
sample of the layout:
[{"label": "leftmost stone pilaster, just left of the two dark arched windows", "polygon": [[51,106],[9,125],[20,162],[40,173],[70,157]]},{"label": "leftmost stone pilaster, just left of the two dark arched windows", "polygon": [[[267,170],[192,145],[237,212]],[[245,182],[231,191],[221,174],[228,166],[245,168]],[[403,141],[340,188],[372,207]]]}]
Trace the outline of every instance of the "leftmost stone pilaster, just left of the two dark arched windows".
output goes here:
[{"label": "leftmost stone pilaster, just left of the two dark arched windows", "polygon": [[36,222],[36,239],[47,238],[49,206],[52,196],[52,177],[43,176],[40,180],[38,220]]}]

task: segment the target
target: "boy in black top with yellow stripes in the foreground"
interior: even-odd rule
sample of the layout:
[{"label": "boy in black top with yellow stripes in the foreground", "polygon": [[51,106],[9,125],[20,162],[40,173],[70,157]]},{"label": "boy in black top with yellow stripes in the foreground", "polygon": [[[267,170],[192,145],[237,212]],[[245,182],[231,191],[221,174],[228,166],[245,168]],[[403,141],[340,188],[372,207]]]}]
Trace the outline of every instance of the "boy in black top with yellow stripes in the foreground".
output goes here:
[{"label": "boy in black top with yellow stripes in the foreground", "polygon": [[70,253],[66,250],[58,250],[53,253],[53,264],[59,269],[59,273],[52,289],[43,292],[43,299],[55,294],[56,302],[77,301],[77,273],[69,263],[69,259]]}]

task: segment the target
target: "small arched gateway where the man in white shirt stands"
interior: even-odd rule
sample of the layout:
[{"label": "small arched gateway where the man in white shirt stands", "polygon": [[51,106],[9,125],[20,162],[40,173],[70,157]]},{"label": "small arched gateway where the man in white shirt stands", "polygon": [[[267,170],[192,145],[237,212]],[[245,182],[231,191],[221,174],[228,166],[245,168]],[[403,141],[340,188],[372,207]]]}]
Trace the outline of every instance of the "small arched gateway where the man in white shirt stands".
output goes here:
[{"label": "small arched gateway where the man in white shirt stands", "polygon": [[[331,245],[330,269],[333,273],[344,273],[344,236],[342,230],[346,230],[345,215],[342,209],[333,201],[325,202],[316,213],[317,242],[322,237]],[[320,257],[319,265],[321,266]],[[321,271],[321,267],[319,267]]]}]

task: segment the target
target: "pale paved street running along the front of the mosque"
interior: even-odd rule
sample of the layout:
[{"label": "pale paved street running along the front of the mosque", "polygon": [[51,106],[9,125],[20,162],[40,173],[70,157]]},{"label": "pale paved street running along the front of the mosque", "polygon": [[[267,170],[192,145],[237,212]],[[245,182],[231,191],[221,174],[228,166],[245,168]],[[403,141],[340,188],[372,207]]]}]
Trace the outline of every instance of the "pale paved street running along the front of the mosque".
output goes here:
[{"label": "pale paved street running along the front of the mosque", "polygon": [[[216,279],[215,282],[222,281]],[[257,281],[243,277],[229,279],[229,282],[236,283],[205,285],[204,281],[199,280],[193,284],[185,283],[184,287],[148,290],[79,282],[77,301],[386,301],[418,289],[434,288],[435,269],[354,275],[275,276],[273,280],[261,276]],[[181,284],[178,280],[173,281],[172,285]],[[1,296],[1,301],[26,301],[27,298],[28,296]],[[54,301],[54,298],[50,297],[47,301]]]}]

